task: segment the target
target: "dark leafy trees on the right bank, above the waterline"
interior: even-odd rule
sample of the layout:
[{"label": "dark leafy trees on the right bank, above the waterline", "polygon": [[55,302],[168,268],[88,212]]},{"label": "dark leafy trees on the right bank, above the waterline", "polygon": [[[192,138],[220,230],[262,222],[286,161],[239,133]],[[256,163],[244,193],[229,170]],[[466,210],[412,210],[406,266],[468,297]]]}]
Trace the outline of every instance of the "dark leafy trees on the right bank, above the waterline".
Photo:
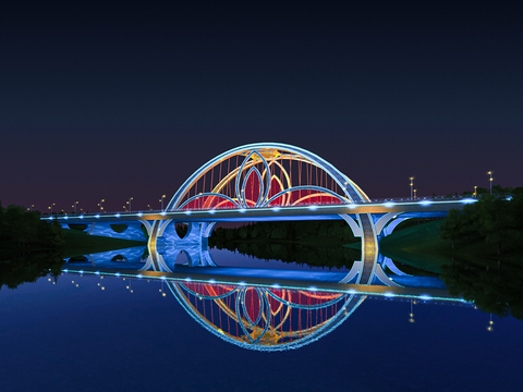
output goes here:
[{"label": "dark leafy trees on the right bank, above the waterline", "polygon": [[494,195],[484,194],[478,201],[462,210],[452,209],[440,225],[441,238],[457,241],[486,241],[497,246],[523,242],[523,188],[499,188]]}]

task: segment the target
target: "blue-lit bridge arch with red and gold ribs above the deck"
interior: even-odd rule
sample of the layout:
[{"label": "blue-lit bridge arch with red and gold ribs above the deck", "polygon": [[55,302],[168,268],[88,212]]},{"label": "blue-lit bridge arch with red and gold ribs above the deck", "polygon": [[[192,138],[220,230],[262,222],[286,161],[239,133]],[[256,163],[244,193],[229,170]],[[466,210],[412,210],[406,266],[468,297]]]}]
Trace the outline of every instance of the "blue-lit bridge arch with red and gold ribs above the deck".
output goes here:
[{"label": "blue-lit bridge arch with red and gold ribs above the deck", "polygon": [[368,197],[352,180],[317,155],[257,143],[209,160],[185,181],[167,210],[365,201]]}]

